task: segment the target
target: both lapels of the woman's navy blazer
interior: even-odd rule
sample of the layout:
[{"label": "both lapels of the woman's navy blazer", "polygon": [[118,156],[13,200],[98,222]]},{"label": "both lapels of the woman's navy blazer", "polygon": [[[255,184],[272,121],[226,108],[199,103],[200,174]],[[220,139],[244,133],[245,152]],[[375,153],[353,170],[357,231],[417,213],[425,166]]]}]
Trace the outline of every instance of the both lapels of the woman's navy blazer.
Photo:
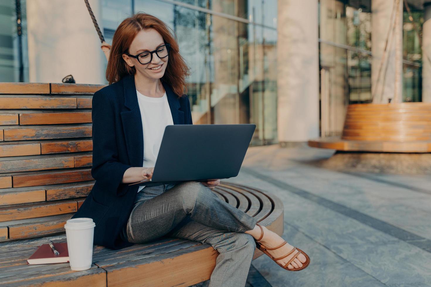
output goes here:
[{"label": "both lapels of the woman's navy blazer", "polygon": [[[129,109],[129,111],[122,111],[120,113],[126,140],[127,155],[131,166],[142,167],[142,161],[144,160],[144,135],[141,110],[137,102],[134,75],[126,75],[121,81],[123,83],[124,105]],[[177,95],[167,83],[162,82],[162,84],[166,90],[173,123],[184,124],[184,111],[180,110],[181,106]]]}]

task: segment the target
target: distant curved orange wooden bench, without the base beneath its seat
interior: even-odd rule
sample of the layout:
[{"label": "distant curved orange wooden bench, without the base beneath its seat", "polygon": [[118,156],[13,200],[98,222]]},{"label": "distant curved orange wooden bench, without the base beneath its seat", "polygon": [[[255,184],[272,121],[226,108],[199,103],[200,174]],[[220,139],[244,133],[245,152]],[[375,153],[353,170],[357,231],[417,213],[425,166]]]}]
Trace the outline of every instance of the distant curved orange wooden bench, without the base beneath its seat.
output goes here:
[{"label": "distant curved orange wooden bench, without the base beneath its seat", "polygon": [[312,139],[309,146],[337,151],[431,152],[431,103],[354,104],[341,137]]}]

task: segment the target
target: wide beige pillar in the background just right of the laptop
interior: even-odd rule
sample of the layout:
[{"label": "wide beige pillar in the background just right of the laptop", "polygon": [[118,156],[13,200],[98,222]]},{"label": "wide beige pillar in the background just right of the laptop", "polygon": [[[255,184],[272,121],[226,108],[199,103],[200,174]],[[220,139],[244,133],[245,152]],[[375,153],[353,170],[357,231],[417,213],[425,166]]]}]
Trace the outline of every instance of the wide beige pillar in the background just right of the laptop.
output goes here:
[{"label": "wide beige pillar in the background just right of the laptop", "polygon": [[319,137],[318,0],[278,0],[278,141]]}]

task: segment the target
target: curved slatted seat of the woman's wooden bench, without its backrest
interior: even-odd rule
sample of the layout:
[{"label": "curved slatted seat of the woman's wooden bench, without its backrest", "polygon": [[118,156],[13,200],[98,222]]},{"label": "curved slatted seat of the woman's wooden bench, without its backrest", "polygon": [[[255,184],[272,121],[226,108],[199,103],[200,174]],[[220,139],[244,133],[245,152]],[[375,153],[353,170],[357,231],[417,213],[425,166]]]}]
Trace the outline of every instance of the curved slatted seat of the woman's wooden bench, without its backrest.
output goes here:
[{"label": "curved slatted seat of the woman's wooden bench, without its backrest", "polygon": [[[213,192],[255,217],[261,225],[279,235],[283,233],[283,205],[274,195],[225,182]],[[219,254],[209,244],[165,237],[121,250],[94,245],[94,264],[85,271],[72,271],[69,263],[26,265],[25,260],[37,249],[37,245],[48,243],[48,240],[53,243],[66,242],[66,235],[62,232],[43,238],[0,243],[0,286],[28,286],[46,282],[62,286],[105,286],[106,282],[108,286],[190,286],[210,278]],[[253,259],[262,254],[256,249]]]}]

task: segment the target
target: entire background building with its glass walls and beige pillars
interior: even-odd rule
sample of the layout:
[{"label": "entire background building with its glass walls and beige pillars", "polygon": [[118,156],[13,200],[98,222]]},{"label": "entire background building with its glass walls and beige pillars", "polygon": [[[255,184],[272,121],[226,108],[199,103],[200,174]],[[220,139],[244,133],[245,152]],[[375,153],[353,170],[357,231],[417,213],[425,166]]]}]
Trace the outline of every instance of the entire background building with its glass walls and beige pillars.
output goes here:
[{"label": "entire background building with its glass walls and beige pillars", "polygon": [[[339,135],[347,105],[387,102],[398,82],[401,101],[431,102],[431,0],[89,2],[108,43],[133,13],[166,22],[194,123],[255,123],[252,145]],[[0,0],[0,27],[1,82],[107,84],[84,0]]]}]

